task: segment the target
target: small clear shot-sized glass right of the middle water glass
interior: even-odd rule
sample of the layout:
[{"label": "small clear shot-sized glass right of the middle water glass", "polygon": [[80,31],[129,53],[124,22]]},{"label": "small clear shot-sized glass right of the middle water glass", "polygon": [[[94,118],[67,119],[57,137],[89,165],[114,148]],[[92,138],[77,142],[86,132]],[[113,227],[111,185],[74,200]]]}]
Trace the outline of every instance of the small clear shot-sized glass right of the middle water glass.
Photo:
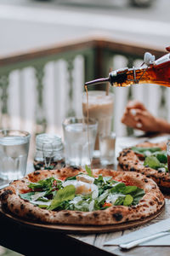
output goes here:
[{"label": "small clear shot-sized glass right of the middle water glass", "polygon": [[102,166],[112,165],[115,162],[116,134],[99,136],[100,163]]}]

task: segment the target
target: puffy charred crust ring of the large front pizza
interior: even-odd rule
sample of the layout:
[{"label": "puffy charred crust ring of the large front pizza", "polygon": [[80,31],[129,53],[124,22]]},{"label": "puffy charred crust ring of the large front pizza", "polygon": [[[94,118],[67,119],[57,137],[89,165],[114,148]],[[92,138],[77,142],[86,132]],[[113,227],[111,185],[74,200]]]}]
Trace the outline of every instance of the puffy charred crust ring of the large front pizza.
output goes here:
[{"label": "puffy charred crust ring of the large front pizza", "polygon": [[145,195],[139,201],[137,206],[124,207],[113,206],[105,210],[98,210],[94,212],[80,212],[62,210],[58,212],[48,211],[32,205],[29,201],[20,198],[19,193],[23,190],[26,192],[27,183],[36,182],[42,178],[47,177],[69,177],[77,175],[78,172],[85,172],[75,170],[74,168],[66,167],[55,171],[41,171],[32,172],[25,178],[14,181],[10,186],[0,191],[0,200],[3,207],[21,218],[27,218],[31,221],[38,221],[48,224],[81,224],[81,225],[105,225],[105,224],[119,224],[128,221],[133,221],[141,218],[146,218],[164,206],[164,197],[158,189],[156,183],[150,178],[137,172],[116,172],[108,169],[94,170],[94,176],[99,174],[103,176],[111,176],[116,180],[130,181],[133,185],[144,189]]}]

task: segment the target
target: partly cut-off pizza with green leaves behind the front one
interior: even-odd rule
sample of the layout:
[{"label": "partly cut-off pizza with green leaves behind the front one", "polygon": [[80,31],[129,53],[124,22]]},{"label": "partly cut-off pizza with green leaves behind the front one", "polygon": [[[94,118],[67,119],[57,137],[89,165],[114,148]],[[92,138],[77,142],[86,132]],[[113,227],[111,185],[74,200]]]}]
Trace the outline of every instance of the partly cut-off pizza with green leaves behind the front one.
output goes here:
[{"label": "partly cut-off pizza with green leaves behind the front one", "polygon": [[144,142],[125,148],[119,154],[118,170],[139,172],[153,179],[162,191],[170,191],[170,175],[167,168],[167,142]]}]

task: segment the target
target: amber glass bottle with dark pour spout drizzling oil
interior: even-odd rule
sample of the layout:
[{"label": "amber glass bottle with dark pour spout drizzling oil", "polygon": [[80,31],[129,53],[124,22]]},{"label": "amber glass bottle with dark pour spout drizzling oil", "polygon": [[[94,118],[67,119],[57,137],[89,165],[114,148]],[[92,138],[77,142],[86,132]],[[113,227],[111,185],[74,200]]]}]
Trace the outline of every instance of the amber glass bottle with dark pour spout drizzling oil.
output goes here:
[{"label": "amber glass bottle with dark pour spout drizzling oil", "polygon": [[[150,56],[153,57],[153,55]],[[111,72],[108,78],[89,81],[86,85],[107,81],[116,87],[132,84],[160,84],[170,87],[170,54],[164,55],[156,61],[144,62],[142,67],[118,69]]]}]

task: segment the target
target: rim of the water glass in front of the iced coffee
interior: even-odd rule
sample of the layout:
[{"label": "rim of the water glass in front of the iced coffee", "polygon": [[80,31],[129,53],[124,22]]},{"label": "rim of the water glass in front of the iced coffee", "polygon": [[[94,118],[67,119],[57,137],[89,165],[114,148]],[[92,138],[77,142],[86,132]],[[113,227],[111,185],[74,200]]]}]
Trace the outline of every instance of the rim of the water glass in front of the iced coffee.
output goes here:
[{"label": "rim of the water glass in front of the iced coffee", "polygon": [[[71,122],[72,120],[72,122]],[[85,123],[83,122],[85,120]],[[87,121],[87,122],[86,122]],[[69,117],[66,118],[63,122],[62,125],[65,127],[66,125],[71,125],[71,124],[84,124],[84,125],[98,125],[98,120],[94,118],[77,118],[77,117]]]}]

